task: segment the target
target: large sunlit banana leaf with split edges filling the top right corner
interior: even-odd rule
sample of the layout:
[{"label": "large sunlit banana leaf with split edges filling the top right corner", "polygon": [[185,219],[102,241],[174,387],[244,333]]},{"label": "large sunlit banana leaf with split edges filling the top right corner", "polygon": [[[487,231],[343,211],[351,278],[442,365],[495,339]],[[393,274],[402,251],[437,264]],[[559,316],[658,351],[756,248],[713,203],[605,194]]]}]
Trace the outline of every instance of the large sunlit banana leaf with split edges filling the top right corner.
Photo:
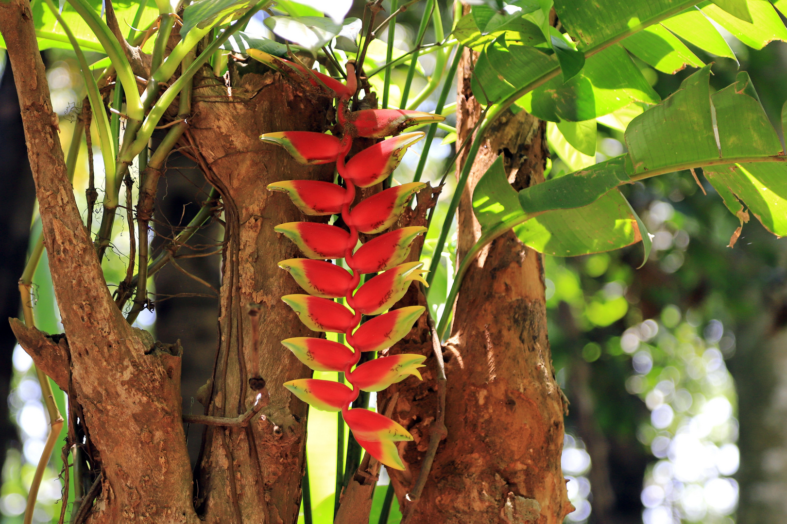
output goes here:
[{"label": "large sunlit banana leaf with split edges filling the top right corner", "polygon": [[[503,30],[486,34],[471,31],[466,23],[457,27],[457,36],[481,50],[472,86],[482,103],[507,105],[519,99],[517,104],[541,119],[586,120],[630,101],[655,97],[618,43],[654,68],[672,73],[686,65],[703,65],[678,36],[709,53],[735,57],[708,17],[755,49],[772,40],[787,41],[787,28],[765,0],[719,0],[719,5],[700,2],[695,6],[697,3],[556,0],[560,23],[586,55],[585,67],[565,83],[559,75],[557,55],[540,41],[535,31],[538,27],[530,27],[527,19],[508,22]],[[616,103],[620,104],[614,107]]]}]

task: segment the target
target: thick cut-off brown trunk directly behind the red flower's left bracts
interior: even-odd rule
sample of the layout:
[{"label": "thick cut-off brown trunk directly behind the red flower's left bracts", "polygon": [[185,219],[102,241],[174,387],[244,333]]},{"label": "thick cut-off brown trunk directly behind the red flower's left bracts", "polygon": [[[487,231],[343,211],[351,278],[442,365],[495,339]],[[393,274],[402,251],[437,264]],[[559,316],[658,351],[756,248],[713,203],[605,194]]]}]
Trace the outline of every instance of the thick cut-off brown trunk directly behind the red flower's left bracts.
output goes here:
[{"label": "thick cut-off brown trunk directly behind the red flower's left bracts", "polygon": [[[231,93],[202,79],[194,87],[190,134],[209,181],[224,201],[226,241],[220,295],[220,347],[206,415],[238,416],[253,404],[250,369],[260,369],[270,404],[246,428],[208,427],[199,464],[198,506],[205,522],[295,522],[304,467],[307,405],[282,384],[310,375],[279,341],[312,335],[281,300],[302,292],[276,266],[301,256],[273,228],[304,220],[283,193],[265,186],[281,180],[330,181],[333,166],[305,167],[262,133],[322,131],[329,101],[305,96],[280,75],[248,74]],[[260,346],[253,362],[250,305],[259,307]]]}]

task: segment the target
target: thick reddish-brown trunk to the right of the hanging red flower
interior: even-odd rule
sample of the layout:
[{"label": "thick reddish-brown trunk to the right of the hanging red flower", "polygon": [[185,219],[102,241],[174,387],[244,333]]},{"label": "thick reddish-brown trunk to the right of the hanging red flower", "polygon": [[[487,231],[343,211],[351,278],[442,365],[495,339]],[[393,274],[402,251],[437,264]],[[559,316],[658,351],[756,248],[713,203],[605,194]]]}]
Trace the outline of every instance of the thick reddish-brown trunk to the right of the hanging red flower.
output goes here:
[{"label": "thick reddish-brown trunk to the right of the hanging red flower", "polygon": [[[457,144],[480,115],[470,91],[469,54],[460,66]],[[480,235],[470,204],[478,179],[504,155],[515,189],[542,181],[544,130],[525,112],[509,113],[485,137],[460,203],[458,259]],[[395,351],[428,354],[428,332],[417,327]],[[445,361],[448,438],[438,448],[421,503],[412,506],[405,495],[434,421],[434,372],[424,372],[423,383],[392,388],[401,395],[394,420],[415,437],[404,447],[408,471],[389,471],[407,522],[562,522],[572,508],[560,468],[563,401],[549,354],[543,265],[541,255],[513,233],[495,240],[468,270]]]}]

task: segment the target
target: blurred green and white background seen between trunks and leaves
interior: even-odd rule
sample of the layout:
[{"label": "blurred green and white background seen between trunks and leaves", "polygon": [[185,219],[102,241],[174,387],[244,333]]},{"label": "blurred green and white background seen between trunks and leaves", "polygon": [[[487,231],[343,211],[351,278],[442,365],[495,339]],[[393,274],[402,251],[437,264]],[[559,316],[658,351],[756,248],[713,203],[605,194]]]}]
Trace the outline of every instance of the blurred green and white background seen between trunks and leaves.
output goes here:
[{"label": "blurred green and white background seen between trunks and leaves", "polygon": [[[449,29],[452,7],[439,5]],[[349,16],[360,16],[362,9],[356,2]],[[412,49],[422,10],[416,3],[401,15],[395,34],[384,32],[368,60],[382,64],[388,38],[401,51]],[[260,19],[252,24],[263,27]],[[715,62],[711,86],[726,86],[737,71],[748,71],[774,127],[781,130],[787,44],[772,42],[758,51],[720,31],[737,61],[709,56],[685,43],[704,61]],[[434,42],[431,28],[424,41]],[[61,119],[61,141],[68,147],[85,91],[72,53],[49,49],[43,57]],[[100,60],[102,55],[91,58]],[[434,55],[424,54],[419,62],[415,93],[432,74]],[[637,64],[662,97],[693,72],[689,68],[664,75]],[[404,67],[394,70],[394,106],[405,75]],[[0,78],[0,307],[5,318],[19,314],[17,279],[31,230],[35,233],[40,225],[13,75],[2,50]],[[381,92],[382,86],[377,87]],[[438,93],[439,89],[421,109],[433,110]],[[455,185],[450,174],[454,124],[449,115],[424,171],[424,178],[435,184],[449,170],[437,218],[444,216],[441,206],[450,200]],[[560,176],[570,169],[556,154],[560,145],[551,146],[549,176]],[[412,179],[420,147],[405,156],[395,174],[397,181]],[[600,119],[597,159],[619,155],[624,148],[619,126]],[[85,214],[87,153],[83,143],[74,180],[77,203]],[[94,147],[92,154],[100,187],[101,152]],[[187,159],[174,155],[167,167],[157,196],[154,247],[190,221],[209,191]],[[735,247],[726,247],[739,223],[698,175],[695,181],[689,172],[668,174],[623,189],[655,235],[652,253],[641,269],[636,269],[641,264],[640,245],[579,258],[546,257],[552,356],[560,386],[571,401],[563,471],[577,510],[567,522],[787,522],[787,240],[775,238],[752,219]],[[119,217],[105,264],[107,280],[114,285],[124,274],[128,252],[127,226],[123,214]],[[183,251],[187,257],[179,260],[180,266],[214,288],[220,284],[216,251],[222,234],[218,224],[201,229]],[[425,258],[433,256],[430,250],[437,235],[436,230],[429,232]],[[454,245],[440,254],[445,278],[438,279],[438,285],[451,284]],[[39,328],[61,332],[46,258],[35,274],[34,289]],[[201,406],[194,406],[194,395],[209,377],[216,350],[215,295],[172,267],[157,273],[154,290],[155,310],[144,311],[136,325],[167,343],[180,339],[185,350],[183,409],[198,412]],[[445,305],[430,300],[430,307],[438,312]],[[62,407],[65,395],[55,390]],[[0,522],[11,524],[21,522],[48,424],[31,360],[16,345],[5,321],[0,321],[0,397],[7,398],[0,400]],[[333,414],[312,411],[309,434],[320,434],[308,447],[314,522],[332,520],[336,438],[331,435],[336,433]],[[200,427],[189,428],[193,457],[200,437]],[[61,467],[61,456],[55,453],[39,493],[35,522],[57,522]],[[372,522],[385,522],[379,521],[379,508],[387,483],[382,475]],[[394,502],[387,522],[401,518],[395,506]]]}]

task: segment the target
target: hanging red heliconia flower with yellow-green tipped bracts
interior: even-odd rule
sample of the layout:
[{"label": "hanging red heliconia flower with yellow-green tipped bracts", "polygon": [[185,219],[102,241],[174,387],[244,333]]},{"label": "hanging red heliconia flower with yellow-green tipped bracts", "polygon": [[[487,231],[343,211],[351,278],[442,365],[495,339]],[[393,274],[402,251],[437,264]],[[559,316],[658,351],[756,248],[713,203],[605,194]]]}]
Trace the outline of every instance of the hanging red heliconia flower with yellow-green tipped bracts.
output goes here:
[{"label": "hanging red heliconia flower with yellow-green tipped bracts", "polygon": [[[357,442],[375,459],[404,470],[394,442],[412,440],[412,435],[386,416],[368,409],[350,409],[361,390],[379,391],[410,375],[421,378],[418,368],[426,357],[398,354],[357,365],[363,351],[380,351],[393,346],[410,332],[423,314],[423,306],[389,311],[413,280],[423,282],[421,262],[404,262],[412,241],[427,229],[406,227],[384,233],[357,247],[358,233],[381,233],[390,228],[405,210],[412,196],[426,184],[413,182],[386,189],[358,203],[353,209],[356,186],[378,184],[396,169],[407,148],[423,133],[407,133],[379,141],[358,152],[345,163],[354,137],[389,137],[416,123],[443,120],[440,115],[398,109],[364,109],[350,112],[348,103],[356,91],[355,65],[347,64],[347,85],[308,71],[300,65],[249,49],[250,56],[277,71],[304,79],[308,89],[338,98],[337,119],[341,136],[307,131],[267,133],[260,139],[280,145],[305,164],[335,162],[345,187],[322,181],[288,180],[268,185],[272,191],[286,192],[293,203],[309,215],[341,214],[349,231],[336,225],[315,222],[287,222],[275,227],[292,240],[309,258],[279,262],[308,295],[286,295],[282,299],[309,329],[345,335],[347,345],[327,339],[296,337],[282,344],[315,371],[344,372],[352,389],[343,383],[319,379],[290,380],[284,386],[297,398],[317,409],[342,412]],[[344,258],[352,271],[326,262]],[[378,273],[360,288],[360,275]],[[347,306],[333,299],[344,298]],[[381,314],[382,313],[382,314]],[[379,315],[359,327],[361,315]],[[349,347],[348,347],[349,346]],[[353,369],[355,368],[355,369]]]}]

